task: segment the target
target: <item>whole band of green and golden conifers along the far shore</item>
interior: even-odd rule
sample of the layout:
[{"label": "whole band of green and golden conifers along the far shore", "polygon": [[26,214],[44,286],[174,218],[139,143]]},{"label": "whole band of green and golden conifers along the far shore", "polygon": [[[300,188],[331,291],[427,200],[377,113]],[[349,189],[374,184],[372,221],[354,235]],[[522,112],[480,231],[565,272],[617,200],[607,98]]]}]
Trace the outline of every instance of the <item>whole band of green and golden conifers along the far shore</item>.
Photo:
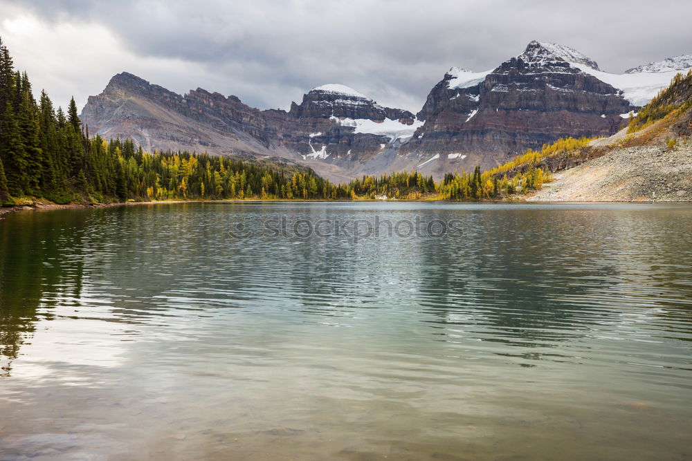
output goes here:
[{"label": "whole band of green and golden conifers along the far shore", "polygon": [[35,100],[28,76],[14,69],[0,39],[0,205],[12,205],[23,198],[46,198],[55,203],[196,198],[502,198],[540,188],[546,175],[538,167],[511,178],[506,174],[498,178],[498,173],[509,171],[516,162],[537,164],[544,154],[582,144],[570,139],[541,152],[527,151],[514,163],[491,171],[482,173],[476,167],[473,173],[448,173],[440,182],[410,171],[363,176],[334,185],[311,169],[288,164],[185,151],[147,153],[131,140],[89,137],[74,99],[67,113],[60,107],[55,109],[44,91]]}]

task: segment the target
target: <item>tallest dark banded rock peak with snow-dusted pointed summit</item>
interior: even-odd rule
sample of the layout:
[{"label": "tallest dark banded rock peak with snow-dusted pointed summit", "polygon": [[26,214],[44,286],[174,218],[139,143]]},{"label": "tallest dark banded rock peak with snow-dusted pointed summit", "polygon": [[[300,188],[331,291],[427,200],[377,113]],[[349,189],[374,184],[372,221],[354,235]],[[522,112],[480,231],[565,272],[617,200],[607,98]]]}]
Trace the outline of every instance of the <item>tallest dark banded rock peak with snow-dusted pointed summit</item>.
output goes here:
[{"label": "tallest dark banded rock peak with snow-dusted pointed summit", "polygon": [[556,50],[597,68],[571,48],[532,41],[490,72],[453,68],[419,113],[425,125],[402,149],[462,153],[482,167],[564,136],[610,135],[634,109],[617,88],[572,66]]}]

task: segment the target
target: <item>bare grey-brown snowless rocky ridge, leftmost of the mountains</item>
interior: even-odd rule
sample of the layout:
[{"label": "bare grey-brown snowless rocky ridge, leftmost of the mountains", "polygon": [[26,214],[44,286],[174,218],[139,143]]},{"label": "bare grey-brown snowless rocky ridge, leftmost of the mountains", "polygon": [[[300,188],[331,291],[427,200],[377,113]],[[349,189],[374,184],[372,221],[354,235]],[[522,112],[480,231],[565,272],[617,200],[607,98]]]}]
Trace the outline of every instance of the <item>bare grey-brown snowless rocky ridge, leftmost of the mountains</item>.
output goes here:
[{"label": "bare grey-brown snowless rocky ridge, leftmost of the mountains", "polygon": [[82,121],[92,133],[132,138],[148,151],[270,154],[272,147],[262,112],[237,97],[201,88],[181,96],[129,73],[89,97]]}]

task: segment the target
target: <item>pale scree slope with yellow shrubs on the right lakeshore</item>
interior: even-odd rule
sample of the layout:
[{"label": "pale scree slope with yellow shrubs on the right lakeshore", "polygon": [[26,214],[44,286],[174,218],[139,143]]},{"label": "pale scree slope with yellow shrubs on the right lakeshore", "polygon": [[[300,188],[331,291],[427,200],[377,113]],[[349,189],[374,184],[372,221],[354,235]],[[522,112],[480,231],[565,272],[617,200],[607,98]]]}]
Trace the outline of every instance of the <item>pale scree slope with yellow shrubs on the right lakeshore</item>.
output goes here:
[{"label": "pale scree slope with yellow shrubs on the right lakeshore", "polygon": [[629,129],[579,155],[544,159],[554,180],[527,200],[692,201],[691,138],[692,71],[642,108]]}]

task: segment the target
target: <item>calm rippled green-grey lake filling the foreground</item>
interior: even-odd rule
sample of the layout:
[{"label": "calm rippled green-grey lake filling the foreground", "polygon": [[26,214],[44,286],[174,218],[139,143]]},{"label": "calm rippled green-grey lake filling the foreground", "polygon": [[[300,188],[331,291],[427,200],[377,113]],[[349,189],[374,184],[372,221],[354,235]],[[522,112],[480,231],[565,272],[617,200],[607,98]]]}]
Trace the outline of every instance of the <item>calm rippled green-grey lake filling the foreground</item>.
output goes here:
[{"label": "calm rippled green-grey lake filling the foreground", "polygon": [[0,364],[3,460],[692,459],[692,206],[11,214]]}]

